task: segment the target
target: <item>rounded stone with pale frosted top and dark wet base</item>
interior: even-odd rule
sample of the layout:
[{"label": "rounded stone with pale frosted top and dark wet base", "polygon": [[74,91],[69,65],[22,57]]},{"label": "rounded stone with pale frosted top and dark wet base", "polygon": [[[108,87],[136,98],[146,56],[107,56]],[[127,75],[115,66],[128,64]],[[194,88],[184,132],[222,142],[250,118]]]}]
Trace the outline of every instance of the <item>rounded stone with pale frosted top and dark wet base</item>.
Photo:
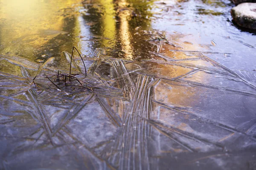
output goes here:
[{"label": "rounded stone with pale frosted top and dark wet base", "polygon": [[239,26],[256,30],[256,3],[241,3],[231,9],[231,15]]}]

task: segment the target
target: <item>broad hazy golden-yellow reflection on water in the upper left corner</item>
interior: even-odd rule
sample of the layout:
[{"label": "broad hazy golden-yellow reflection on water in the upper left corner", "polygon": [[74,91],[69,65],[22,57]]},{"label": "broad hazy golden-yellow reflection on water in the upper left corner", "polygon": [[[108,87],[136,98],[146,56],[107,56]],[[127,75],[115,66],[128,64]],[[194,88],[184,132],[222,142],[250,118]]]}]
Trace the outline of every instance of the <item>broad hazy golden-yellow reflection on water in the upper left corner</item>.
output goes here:
[{"label": "broad hazy golden-yellow reflection on water in the upper left corner", "polygon": [[[63,30],[73,4],[81,0],[0,0],[1,53],[31,58],[39,48]],[[72,11],[73,12],[73,11]]]}]

